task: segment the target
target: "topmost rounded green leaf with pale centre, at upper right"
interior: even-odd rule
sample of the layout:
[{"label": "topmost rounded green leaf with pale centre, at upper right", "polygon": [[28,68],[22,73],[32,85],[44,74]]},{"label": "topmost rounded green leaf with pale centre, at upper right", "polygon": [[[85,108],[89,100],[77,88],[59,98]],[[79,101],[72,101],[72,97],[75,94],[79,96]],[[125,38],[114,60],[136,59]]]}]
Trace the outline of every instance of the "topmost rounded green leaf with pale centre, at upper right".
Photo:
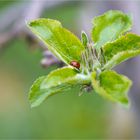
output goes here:
[{"label": "topmost rounded green leaf with pale centre, at upper right", "polygon": [[131,29],[131,17],[111,10],[93,19],[92,39],[95,47],[100,48],[107,42],[117,39]]}]

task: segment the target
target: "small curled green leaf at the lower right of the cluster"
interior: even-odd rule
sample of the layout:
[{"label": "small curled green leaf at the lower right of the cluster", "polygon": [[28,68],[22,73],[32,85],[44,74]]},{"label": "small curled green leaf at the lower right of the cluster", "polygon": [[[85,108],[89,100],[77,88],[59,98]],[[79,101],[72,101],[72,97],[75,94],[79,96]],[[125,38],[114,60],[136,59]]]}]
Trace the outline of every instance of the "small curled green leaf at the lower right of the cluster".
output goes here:
[{"label": "small curled green leaf at the lower right of the cluster", "polygon": [[96,93],[114,102],[128,107],[128,92],[131,81],[115,71],[104,71],[98,77],[96,72],[92,75],[92,85]]}]

